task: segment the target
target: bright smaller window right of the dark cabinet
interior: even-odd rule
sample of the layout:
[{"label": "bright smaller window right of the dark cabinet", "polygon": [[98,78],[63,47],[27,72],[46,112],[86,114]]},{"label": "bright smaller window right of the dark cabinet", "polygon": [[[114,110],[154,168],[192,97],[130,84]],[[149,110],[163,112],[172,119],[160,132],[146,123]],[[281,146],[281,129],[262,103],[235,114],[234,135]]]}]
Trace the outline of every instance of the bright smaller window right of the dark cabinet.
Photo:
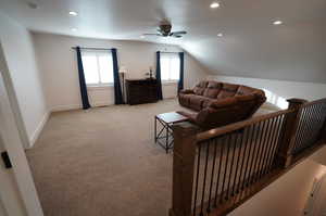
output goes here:
[{"label": "bright smaller window right of the dark cabinet", "polygon": [[180,76],[180,58],[178,53],[161,54],[161,79],[163,81],[177,81]]}]

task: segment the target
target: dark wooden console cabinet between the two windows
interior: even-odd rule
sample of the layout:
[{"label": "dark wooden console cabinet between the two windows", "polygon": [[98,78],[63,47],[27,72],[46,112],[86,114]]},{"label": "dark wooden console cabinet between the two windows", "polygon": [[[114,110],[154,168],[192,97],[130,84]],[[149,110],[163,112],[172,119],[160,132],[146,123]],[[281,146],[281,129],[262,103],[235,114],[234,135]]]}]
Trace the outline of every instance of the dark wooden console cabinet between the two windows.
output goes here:
[{"label": "dark wooden console cabinet between the two windows", "polygon": [[156,79],[126,79],[126,96],[130,105],[156,102]]}]

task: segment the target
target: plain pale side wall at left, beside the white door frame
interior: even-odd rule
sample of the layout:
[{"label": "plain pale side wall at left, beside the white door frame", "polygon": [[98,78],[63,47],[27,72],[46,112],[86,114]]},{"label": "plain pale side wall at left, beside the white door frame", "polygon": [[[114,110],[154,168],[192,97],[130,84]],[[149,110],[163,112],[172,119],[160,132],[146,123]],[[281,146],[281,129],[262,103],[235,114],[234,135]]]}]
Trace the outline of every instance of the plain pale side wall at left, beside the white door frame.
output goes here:
[{"label": "plain pale side wall at left, beside the white door frame", "polygon": [[20,132],[23,138],[27,134],[28,141],[24,143],[28,148],[37,139],[48,116],[35,50],[28,30],[1,13],[0,29],[0,41],[9,67],[4,78],[7,85],[11,82],[15,90],[12,99],[15,98],[18,109],[13,110],[18,126],[24,125]]}]

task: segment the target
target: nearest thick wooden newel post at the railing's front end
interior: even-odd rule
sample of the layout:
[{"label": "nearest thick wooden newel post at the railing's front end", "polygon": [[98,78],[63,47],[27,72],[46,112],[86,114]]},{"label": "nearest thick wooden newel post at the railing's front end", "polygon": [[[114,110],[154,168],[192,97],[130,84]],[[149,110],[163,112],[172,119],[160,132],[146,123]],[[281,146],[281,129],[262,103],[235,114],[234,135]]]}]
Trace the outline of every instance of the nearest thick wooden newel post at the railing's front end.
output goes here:
[{"label": "nearest thick wooden newel post at the railing's front end", "polygon": [[187,122],[173,126],[173,193],[170,216],[191,215],[197,132],[198,127]]}]

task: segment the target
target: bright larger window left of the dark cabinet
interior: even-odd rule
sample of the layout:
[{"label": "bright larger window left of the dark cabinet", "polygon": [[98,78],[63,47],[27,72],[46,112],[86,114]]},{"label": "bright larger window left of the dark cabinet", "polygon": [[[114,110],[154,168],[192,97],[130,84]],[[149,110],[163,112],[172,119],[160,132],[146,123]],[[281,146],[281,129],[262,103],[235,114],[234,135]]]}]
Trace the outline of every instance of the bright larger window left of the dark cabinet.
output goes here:
[{"label": "bright larger window left of the dark cabinet", "polygon": [[114,82],[113,60],[110,51],[83,51],[82,60],[87,86],[105,86]]}]

